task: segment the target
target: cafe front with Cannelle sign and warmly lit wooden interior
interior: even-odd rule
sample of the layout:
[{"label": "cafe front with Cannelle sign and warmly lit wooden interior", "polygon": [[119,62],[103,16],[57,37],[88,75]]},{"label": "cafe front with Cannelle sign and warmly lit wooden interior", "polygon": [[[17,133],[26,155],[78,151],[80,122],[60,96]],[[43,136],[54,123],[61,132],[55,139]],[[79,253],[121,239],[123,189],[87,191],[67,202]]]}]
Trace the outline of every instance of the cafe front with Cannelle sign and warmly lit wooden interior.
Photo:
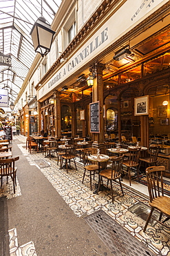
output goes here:
[{"label": "cafe front with Cannelle sign and warmly lit wooden interior", "polygon": [[[169,1],[136,3],[136,12],[131,4],[125,1],[116,11],[111,4],[103,12],[98,8],[98,20],[89,19],[36,86],[40,122],[45,113],[53,116],[43,122],[47,129],[54,126],[50,134],[90,136],[99,148],[105,135],[118,141],[136,136],[145,147],[162,136],[169,143]],[[120,23],[123,13],[127,22]],[[44,102],[54,93],[53,111]],[[90,104],[96,102],[94,116]]]}]

